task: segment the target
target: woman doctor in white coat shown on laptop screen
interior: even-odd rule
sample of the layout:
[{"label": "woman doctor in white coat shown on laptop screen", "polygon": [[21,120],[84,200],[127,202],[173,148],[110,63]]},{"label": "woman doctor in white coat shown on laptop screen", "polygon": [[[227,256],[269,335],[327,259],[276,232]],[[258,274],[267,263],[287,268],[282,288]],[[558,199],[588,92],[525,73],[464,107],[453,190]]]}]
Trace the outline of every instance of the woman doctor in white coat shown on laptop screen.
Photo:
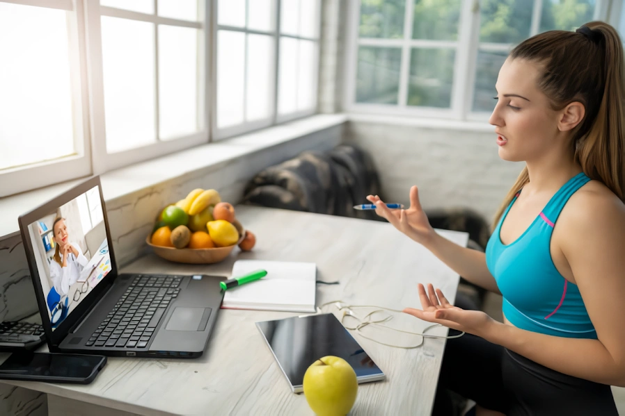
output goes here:
[{"label": "woman doctor in white coat shown on laptop screen", "polygon": [[65,225],[64,218],[54,219],[52,235],[57,245],[54,261],[50,262],[50,278],[56,292],[63,296],[68,294],[70,286],[76,283],[88,260],[78,244],[70,243],[68,226]]}]

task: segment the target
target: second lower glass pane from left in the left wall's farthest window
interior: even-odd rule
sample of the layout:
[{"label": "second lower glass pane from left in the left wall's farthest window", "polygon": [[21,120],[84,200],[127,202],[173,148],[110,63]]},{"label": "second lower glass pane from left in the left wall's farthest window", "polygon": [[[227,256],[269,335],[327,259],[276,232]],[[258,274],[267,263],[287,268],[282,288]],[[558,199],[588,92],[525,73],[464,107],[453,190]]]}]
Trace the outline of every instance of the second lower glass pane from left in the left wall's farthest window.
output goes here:
[{"label": "second lower glass pane from left in the left wall's farthest window", "polygon": [[247,121],[267,119],[273,113],[276,82],[274,37],[248,35],[247,42],[246,118]]}]

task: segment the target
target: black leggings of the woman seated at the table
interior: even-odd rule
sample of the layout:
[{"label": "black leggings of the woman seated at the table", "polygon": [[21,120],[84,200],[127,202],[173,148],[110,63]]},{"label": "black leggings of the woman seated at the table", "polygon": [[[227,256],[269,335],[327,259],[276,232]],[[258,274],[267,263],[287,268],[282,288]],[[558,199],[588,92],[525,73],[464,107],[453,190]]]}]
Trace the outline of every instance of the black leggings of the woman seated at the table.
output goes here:
[{"label": "black leggings of the woman seated at the table", "polygon": [[618,416],[609,385],[567,376],[470,334],[447,341],[432,415],[452,415],[449,390],[508,416]]}]

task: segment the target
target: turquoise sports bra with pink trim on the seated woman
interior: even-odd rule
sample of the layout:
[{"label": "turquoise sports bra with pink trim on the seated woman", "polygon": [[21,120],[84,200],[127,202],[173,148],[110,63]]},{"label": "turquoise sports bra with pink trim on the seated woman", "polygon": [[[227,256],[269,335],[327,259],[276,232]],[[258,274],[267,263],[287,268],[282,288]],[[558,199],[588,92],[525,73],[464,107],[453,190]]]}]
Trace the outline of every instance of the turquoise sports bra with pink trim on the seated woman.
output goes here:
[{"label": "turquoise sports bra with pink trim on the seated woman", "polygon": [[489,239],[486,266],[503,295],[503,314],[518,328],[567,338],[597,338],[577,285],[557,271],[550,250],[558,215],[571,195],[588,181],[583,172],[573,176],[521,237],[503,244],[501,224],[521,193],[517,192]]}]

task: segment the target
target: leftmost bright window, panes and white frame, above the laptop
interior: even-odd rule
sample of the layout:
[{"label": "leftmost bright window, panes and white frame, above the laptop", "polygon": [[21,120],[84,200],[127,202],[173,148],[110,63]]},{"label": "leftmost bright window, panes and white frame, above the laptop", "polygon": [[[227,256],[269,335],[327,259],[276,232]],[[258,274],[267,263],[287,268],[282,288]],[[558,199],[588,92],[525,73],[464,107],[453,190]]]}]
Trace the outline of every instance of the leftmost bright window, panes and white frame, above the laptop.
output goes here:
[{"label": "leftmost bright window, panes and white frame, above the laptop", "polygon": [[0,197],[91,172],[80,24],[71,0],[0,2]]}]

